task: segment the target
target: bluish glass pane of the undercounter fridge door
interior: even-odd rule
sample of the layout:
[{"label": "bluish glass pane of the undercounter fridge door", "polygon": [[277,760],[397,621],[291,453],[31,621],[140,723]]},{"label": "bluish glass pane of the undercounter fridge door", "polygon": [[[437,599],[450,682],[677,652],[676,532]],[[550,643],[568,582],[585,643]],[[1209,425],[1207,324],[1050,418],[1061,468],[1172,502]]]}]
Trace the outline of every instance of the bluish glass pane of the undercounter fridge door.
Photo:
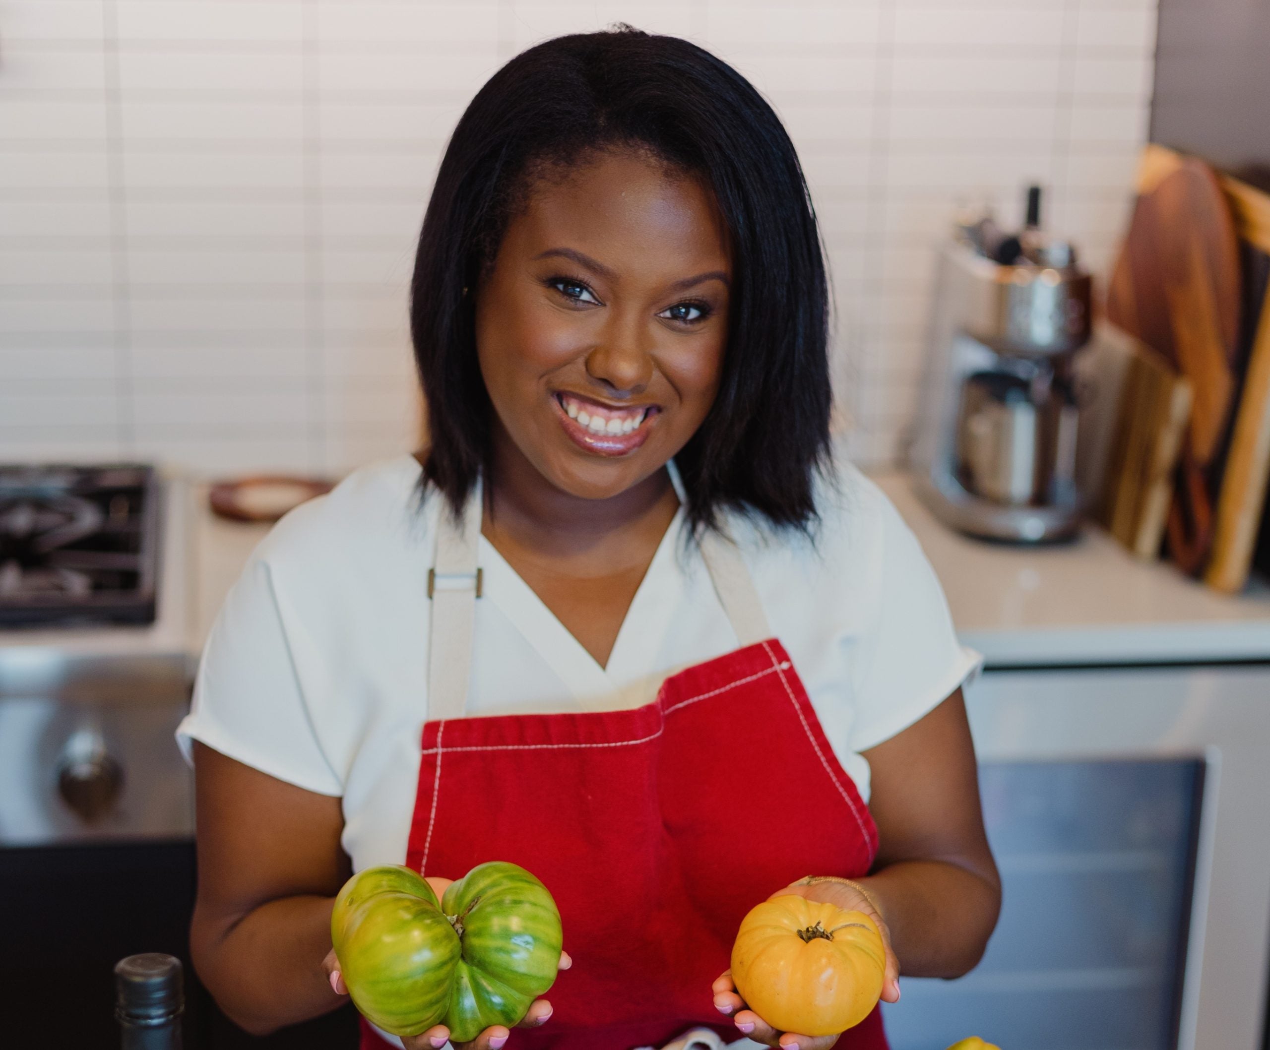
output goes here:
[{"label": "bluish glass pane of the undercounter fridge door", "polygon": [[1181,1026],[1205,773],[1187,755],[984,762],[1001,919],[966,978],[900,980],[893,1050],[972,1032],[1006,1047],[1194,1046]]}]

